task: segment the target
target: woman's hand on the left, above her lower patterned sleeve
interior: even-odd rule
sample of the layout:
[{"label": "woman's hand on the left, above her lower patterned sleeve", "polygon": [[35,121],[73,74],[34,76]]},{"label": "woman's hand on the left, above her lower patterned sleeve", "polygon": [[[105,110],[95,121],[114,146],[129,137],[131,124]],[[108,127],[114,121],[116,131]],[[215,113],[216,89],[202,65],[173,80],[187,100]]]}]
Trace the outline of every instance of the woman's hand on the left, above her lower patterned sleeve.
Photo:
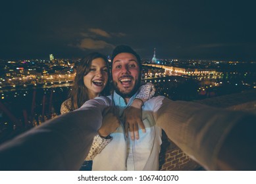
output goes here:
[{"label": "woman's hand on the left, above her lower patterned sleeve", "polygon": [[116,130],[116,128],[120,125],[120,121],[118,120],[118,117],[111,106],[105,108],[102,116],[103,120],[101,127],[98,129],[98,133],[99,136],[104,138]]}]

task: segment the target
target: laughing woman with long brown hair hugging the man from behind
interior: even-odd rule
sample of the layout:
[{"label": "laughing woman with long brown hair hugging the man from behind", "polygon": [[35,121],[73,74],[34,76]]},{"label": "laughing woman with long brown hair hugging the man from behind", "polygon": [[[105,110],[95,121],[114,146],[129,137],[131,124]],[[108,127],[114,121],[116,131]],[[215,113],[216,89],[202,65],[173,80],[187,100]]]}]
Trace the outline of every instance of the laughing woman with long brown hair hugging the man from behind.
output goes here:
[{"label": "laughing woman with long brown hair hugging the man from behind", "polygon": [[[86,101],[95,97],[109,95],[109,76],[109,61],[107,60],[107,57],[100,53],[90,53],[83,58],[76,68],[76,77],[74,79],[74,85],[70,91],[70,98],[64,101],[61,105],[61,114],[76,110]],[[138,99],[135,100],[132,105],[141,107],[145,99],[149,99],[154,95],[154,89],[155,88],[150,83],[141,86],[141,92],[137,95]],[[136,112],[137,114],[134,114],[134,111],[133,113],[126,112],[125,114],[126,117],[133,116],[131,119],[134,120],[134,117],[141,117],[141,112]],[[95,155],[101,152],[101,150],[111,141],[111,137],[108,135],[115,131],[118,125],[118,118],[115,114],[109,109],[105,110],[103,113],[102,126],[98,130],[98,135],[93,139],[93,144],[86,160],[92,160]],[[81,169],[91,170],[91,162],[84,162]]]}]

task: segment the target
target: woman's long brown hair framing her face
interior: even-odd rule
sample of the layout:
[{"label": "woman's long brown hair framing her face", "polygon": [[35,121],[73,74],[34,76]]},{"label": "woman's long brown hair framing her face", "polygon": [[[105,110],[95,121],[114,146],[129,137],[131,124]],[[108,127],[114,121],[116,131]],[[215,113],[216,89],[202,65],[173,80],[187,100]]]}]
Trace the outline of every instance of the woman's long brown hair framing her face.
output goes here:
[{"label": "woman's long brown hair framing her face", "polygon": [[[82,58],[82,60],[78,63],[78,66],[76,67],[76,77],[74,78],[74,85],[72,86],[69,94],[72,104],[71,110],[80,108],[82,104],[90,100],[88,97],[88,89],[86,85],[84,85],[84,76],[86,76],[90,72],[91,61],[95,58],[103,58],[103,60],[105,60],[107,65],[107,73],[109,78],[111,78],[109,72],[109,60],[107,59],[107,57],[105,57],[105,55],[102,55],[101,53],[90,53],[89,55],[86,55],[86,57]],[[101,91],[101,95],[109,94],[109,78],[105,85],[105,88],[103,89],[103,91]]]}]

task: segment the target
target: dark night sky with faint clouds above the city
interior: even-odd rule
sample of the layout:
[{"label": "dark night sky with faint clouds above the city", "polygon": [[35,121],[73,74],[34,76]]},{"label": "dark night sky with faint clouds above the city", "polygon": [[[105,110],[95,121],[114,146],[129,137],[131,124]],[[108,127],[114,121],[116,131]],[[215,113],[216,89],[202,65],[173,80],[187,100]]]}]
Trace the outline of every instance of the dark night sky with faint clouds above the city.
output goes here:
[{"label": "dark night sky with faint clouds above the city", "polygon": [[105,0],[0,3],[0,58],[111,55],[256,61],[254,1]]}]

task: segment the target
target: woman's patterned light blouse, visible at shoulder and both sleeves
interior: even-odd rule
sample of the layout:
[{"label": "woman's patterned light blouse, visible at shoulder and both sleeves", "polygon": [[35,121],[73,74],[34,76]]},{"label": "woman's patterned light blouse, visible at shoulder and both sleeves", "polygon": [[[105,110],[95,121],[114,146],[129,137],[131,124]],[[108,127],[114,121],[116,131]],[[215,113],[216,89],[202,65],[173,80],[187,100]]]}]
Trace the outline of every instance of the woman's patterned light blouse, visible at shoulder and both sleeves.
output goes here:
[{"label": "woman's patterned light blouse, visible at shoulder and both sleeves", "polygon": [[[153,83],[145,83],[145,85],[141,85],[139,89],[139,93],[136,96],[137,99],[151,99],[155,95],[155,86]],[[71,111],[71,99],[67,99],[61,104],[61,114],[65,114]],[[102,138],[99,135],[95,135],[93,139],[93,143],[91,145],[91,149],[86,156],[85,160],[93,160],[93,158],[103,150],[107,144],[109,144],[112,140],[110,138]]]}]

